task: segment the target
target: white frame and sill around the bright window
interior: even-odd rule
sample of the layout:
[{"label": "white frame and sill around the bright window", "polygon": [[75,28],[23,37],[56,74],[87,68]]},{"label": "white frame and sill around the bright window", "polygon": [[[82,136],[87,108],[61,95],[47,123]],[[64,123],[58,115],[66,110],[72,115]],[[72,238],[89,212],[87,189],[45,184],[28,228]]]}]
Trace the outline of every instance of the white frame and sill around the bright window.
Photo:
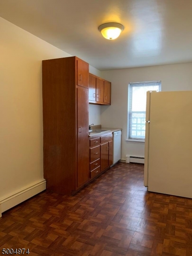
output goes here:
[{"label": "white frame and sill around the bright window", "polygon": [[[138,143],[138,144],[145,143],[145,138],[144,139],[142,139],[142,138],[137,139],[137,138],[130,138],[130,136],[129,136],[129,131],[130,131],[130,129],[129,129],[129,127],[130,127],[129,120],[130,120],[130,114],[132,114],[132,110],[131,110],[131,113],[130,113],[129,102],[130,102],[130,99],[132,98],[132,89],[134,87],[134,84],[137,85],[137,86],[140,85],[140,87],[145,87],[145,86],[150,86],[150,83],[151,83],[151,86],[153,86],[153,85],[155,85],[155,83],[157,83],[156,85],[159,86],[158,91],[161,91],[161,81],[147,81],[147,82],[134,82],[134,83],[130,82],[128,84],[128,119],[127,119],[127,140],[126,140],[127,143]],[[131,104],[131,107],[132,107],[132,104]],[[140,113],[145,113],[146,114],[146,111],[135,111],[135,112],[137,112],[137,113],[140,112]],[[133,125],[132,122],[131,122],[131,125]],[[141,125],[142,125],[142,123],[141,123]]]}]

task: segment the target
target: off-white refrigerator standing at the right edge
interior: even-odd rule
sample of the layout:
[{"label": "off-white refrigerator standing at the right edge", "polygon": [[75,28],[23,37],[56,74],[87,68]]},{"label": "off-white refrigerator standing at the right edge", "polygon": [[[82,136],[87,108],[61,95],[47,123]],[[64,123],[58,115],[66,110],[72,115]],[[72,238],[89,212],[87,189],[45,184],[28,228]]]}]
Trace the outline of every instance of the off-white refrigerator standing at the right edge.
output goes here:
[{"label": "off-white refrigerator standing at the right edge", "polygon": [[147,92],[144,186],[192,198],[192,91]]}]

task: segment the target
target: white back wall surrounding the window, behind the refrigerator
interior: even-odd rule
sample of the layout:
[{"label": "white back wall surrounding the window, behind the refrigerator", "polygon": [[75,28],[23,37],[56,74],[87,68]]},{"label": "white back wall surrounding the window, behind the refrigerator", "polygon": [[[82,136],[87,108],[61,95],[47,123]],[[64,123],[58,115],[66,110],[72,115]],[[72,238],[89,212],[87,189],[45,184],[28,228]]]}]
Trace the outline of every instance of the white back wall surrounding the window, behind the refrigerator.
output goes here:
[{"label": "white back wall surrounding the window, behind the refrigerator", "polygon": [[[111,106],[102,106],[101,125],[122,128],[122,159],[125,155],[144,157],[144,144],[127,143],[128,83],[162,82],[162,91],[192,90],[192,63],[102,71],[111,81]],[[162,102],[163,104],[163,102]]]}]

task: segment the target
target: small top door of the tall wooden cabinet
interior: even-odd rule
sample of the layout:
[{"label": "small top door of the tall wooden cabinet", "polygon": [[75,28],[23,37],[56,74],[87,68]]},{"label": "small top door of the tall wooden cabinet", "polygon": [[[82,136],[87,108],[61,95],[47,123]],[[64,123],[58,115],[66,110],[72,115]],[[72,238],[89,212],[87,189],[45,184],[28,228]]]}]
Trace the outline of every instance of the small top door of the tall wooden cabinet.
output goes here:
[{"label": "small top door of the tall wooden cabinet", "polygon": [[89,86],[89,64],[77,58],[77,85]]}]

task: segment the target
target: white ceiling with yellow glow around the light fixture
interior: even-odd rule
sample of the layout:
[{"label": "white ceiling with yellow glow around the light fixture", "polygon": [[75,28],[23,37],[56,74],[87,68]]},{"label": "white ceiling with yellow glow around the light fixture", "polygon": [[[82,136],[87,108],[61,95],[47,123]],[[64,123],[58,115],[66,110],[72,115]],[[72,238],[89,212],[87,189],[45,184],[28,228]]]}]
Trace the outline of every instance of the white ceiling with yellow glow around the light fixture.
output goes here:
[{"label": "white ceiling with yellow glow around the light fixture", "polygon": [[99,70],[192,62],[192,0],[0,0],[0,16]]}]

